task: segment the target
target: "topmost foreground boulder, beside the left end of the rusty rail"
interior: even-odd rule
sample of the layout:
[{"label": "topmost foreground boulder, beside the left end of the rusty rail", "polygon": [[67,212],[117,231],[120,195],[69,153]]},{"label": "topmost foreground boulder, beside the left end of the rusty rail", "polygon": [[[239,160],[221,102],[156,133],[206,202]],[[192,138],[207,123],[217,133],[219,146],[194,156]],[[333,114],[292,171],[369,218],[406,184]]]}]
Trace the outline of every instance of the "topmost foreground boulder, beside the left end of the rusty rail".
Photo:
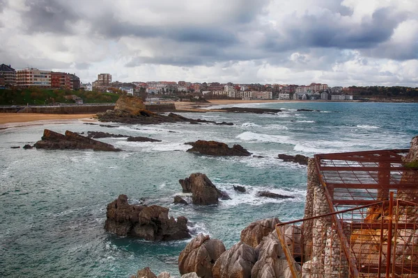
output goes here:
[{"label": "topmost foreground boulder, beside the left end of the rusty rail", "polygon": [[251,247],[256,247],[258,243],[261,243],[264,236],[274,231],[276,224],[280,221],[277,218],[263,219],[256,222],[252,222],[248,227],[241,231],[241,241],[247,243]]}]

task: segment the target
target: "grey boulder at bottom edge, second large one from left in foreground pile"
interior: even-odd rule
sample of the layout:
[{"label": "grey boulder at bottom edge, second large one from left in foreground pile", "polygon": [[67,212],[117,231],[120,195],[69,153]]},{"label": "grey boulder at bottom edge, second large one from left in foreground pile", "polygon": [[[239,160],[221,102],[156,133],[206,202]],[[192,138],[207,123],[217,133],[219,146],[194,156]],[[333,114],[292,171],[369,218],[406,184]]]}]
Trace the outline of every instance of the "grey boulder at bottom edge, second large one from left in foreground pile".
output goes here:
[{"label": "grey boulder at bottom edge, second large one from left in foreground pile", "polygon": [[240,241],[217,259],[212,268],[213,277],[250,278],[251,269],[256,261],[257,254],[254,248]]}]

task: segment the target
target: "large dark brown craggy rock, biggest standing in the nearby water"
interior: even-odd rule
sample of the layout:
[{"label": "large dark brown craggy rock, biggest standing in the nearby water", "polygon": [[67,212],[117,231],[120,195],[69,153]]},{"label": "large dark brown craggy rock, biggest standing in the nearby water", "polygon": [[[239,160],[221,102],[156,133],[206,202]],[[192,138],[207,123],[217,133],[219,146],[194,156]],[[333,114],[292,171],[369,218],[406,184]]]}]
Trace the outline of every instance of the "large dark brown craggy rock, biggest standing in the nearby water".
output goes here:
[{"label": "large dark brown craggy rock, biggest standing in the nearby water", "polygon": [[190,238],[187,218],[169,218],[169,208],[128,204],[126,195],[107,205],[104,229],[118,236],[137,236],[146,240]]}]

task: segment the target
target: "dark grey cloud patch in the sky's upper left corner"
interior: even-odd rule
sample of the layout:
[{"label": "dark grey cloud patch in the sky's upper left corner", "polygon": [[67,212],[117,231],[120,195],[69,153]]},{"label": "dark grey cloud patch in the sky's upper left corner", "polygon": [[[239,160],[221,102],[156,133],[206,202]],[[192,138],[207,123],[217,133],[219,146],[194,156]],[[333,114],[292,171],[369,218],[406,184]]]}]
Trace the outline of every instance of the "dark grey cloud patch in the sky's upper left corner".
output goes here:
[{"label": "dark grey cloud patch in the sky's upper left corner", "polygon": [[22,13],[28,33],[72,33],[70,24],[79,16],[74,9],[56,0],[26,0],[29,10]]}]

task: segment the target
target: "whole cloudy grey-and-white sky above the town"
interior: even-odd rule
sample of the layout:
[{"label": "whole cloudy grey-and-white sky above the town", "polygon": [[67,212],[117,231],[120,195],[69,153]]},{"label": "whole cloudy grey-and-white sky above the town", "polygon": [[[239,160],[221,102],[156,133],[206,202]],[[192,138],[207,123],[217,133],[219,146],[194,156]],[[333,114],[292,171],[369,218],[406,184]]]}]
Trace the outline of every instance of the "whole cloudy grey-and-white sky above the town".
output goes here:
[{"label": "whole cloudy grey-and-white sky above the town", "polygon": [[417,0],[0,0],[0,63],[114,81],[418,86]]}]

